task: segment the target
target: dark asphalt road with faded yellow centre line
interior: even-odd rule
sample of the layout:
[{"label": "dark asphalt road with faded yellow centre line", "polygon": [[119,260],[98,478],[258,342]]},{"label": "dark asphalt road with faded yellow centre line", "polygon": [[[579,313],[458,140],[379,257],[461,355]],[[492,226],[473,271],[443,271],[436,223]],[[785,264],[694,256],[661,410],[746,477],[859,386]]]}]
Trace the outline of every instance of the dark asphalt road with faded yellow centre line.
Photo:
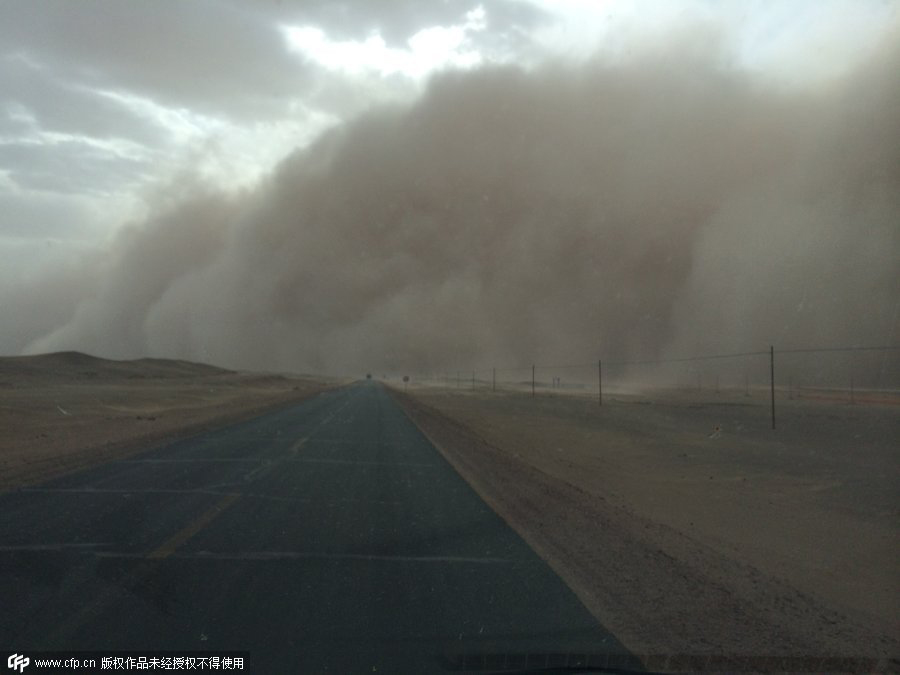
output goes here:
[{"label": "dark asphalt road with faded yellow centre line", "polygon": [[374,382],[0,495],[0,649],[283,673],[625,652]]}]

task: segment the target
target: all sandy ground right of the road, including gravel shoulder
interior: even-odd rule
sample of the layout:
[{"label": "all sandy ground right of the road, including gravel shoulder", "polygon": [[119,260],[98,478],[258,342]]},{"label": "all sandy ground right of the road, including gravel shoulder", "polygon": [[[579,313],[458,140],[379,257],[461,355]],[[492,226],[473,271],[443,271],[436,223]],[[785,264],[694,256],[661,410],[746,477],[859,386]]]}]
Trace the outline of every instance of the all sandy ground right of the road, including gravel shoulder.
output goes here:
[{"label": "all sandy ground right of the road, including gravel shoulder", "polygon": [[636,653],[900,669],[900,406],[395,394]]}]

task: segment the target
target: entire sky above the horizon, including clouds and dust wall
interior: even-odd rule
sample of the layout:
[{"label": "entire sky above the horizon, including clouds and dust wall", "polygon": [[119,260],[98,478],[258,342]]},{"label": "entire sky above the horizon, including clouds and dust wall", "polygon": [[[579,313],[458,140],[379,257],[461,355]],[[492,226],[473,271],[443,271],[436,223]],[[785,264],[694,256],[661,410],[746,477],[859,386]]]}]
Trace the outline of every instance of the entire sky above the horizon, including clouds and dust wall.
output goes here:
[{"label": "entire sky above the horizon, including clouds and dust wall", "polygon": [[875,0],[10,0],[0,353],[896,343],[898,26]]}]

